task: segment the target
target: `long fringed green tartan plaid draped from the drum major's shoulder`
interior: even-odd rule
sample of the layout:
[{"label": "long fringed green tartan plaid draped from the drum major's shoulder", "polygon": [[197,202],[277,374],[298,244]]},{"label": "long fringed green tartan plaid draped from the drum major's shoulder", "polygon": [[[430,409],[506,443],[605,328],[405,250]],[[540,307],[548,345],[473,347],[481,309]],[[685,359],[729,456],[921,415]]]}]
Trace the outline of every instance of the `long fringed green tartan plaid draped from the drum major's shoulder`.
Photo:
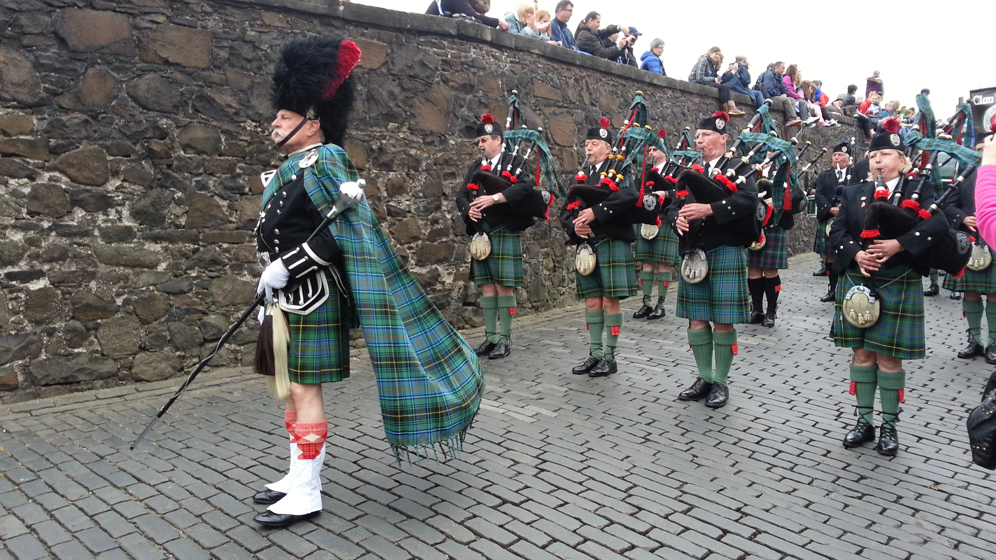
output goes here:
[{"label": "long fringed green tartan plaid draped from the drum major's shoulder", "polygon": [[[302,170],[295,154],[279,173],[305,172],[305,188],[323,214],[332,209],[339,185],[360,175],[346,151],[318,148],[318,160]],[[263,203],[276,192],[271,181]],[[329,226],[343,251],[360,326],[373,363],[384,432],[394,456],[449,458],[462,447],[484,393],[477,356],[429,301],[390,241],[367,200]]]}]

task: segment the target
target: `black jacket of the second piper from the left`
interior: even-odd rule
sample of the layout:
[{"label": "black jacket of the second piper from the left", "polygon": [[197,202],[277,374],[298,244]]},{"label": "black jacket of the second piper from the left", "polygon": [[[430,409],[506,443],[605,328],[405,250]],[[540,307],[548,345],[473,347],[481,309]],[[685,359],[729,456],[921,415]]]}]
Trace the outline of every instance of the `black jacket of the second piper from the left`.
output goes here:
[{"label": "black jacket of the second piper from the left", "polygon": [[[588,175],[588,178],[585,179],[585,184],[600,184],[602,181],[600,173],[609,170],[610,162],[611,159],[606,159],[597,166],[586,166],[584,171]],[[636,204],[639,191],[632,186],[633,180],[628,175],[628,168],[623,169],[622,176],[624,178],[622,179],[622,184],[619,184],[620,189],[610,194],[603,202],[592,207],[595,211],[595,221],[591,224],[594,237],[608,235],[613,239],[621,241],[636,240],[636,233],[633,231],[632,222],[625,217],[625,211]],[[638,180],[638,178],[635,180]],[[601,188],[610,190],[608,186],[601,186]],[[571,195],[568,194],[568,200],[565,200],[564,205],[561,207],[560,221],[565,231],[567,231],[568,237],[570,237],[567,243],[572,245],[582,241],[574,233],[574,220],[578,218],[578,214],[581,213],[583,208],[568,210],[567,207],[570,200]]]}]

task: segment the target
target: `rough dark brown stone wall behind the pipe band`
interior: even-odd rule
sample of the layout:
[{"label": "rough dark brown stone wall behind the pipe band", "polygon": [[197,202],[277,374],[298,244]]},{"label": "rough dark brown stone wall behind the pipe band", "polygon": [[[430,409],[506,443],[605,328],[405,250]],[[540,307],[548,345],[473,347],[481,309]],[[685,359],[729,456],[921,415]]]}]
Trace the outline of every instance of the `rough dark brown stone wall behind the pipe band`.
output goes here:
[{"label": "rough dark brown stone wall behind the pipe band", "polygon": [[[0,390],[7,400],[175,376],[252,301],[258,174],[279,46],[364,51],[347,149],[398,251],[455,325],[477,324],[453,192],[476,116],[518,90],[564,175],[584,130],[693,126],[715,91],[453,20],[334,0],[0,0]],[[735,98],[749,107],[745,97]],[[811,130],[818,145],[853,128]],[[803,224],[805,225],[805,224]],[[802,229],[802,227],[800,228]],[[574,301],[564,234],[526,234],[522,313]],[[242,329],[216,365],[245,364]]]}]

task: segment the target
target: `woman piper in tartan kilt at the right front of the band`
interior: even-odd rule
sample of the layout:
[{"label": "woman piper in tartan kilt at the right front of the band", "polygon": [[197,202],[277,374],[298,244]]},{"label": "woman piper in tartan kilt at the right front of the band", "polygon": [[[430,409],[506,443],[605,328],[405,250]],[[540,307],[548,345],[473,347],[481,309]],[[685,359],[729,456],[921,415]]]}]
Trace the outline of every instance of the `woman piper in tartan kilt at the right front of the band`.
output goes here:
[{"label": "woman piper in tartan kilt at the right front of the band", "polygon": [[967,238],[956,239],[943,215],[932,215],[937,207],[930,203],[929,184],[906,176],[911,164],[898,132],[898,120],[887,119],[872,137],[870,168],[879,180],[844,188],[830,230],[837,251],[834,268],[841,275],[831,336],[837,346],[854,352],[850,378],[858,422],[844,445],[874,440],[877,388],[882,421],[875,450],[882,455],[899,448],[896,422],[906,380],[902,361],[925,354],[920,278],[931,266],[959,273],[951,259],[957,260],[959,244],[966,251],[968,244]]}]

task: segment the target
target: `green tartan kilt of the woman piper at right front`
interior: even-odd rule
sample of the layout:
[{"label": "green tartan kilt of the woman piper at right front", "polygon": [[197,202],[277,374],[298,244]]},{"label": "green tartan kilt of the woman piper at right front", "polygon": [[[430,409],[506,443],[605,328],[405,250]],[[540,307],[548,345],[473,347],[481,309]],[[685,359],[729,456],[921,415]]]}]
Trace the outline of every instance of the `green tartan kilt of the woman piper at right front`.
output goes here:
[{"label": "green tartan kilt of the woman piper at right front", "polygon": [[[867,329],[848,323],[842,312],[844,296],[855,286],[855,280],[867,282],[870,288],[883,286],[876,290],[881,302],[878,321]],[[864,348],[900,360],[921,360],[926,354],[923,281],[907,266],[881,268],[871,278],[865,278],[858,270],[842,274],[837,281],[834,310],[830,336],[837,346]]]}]

